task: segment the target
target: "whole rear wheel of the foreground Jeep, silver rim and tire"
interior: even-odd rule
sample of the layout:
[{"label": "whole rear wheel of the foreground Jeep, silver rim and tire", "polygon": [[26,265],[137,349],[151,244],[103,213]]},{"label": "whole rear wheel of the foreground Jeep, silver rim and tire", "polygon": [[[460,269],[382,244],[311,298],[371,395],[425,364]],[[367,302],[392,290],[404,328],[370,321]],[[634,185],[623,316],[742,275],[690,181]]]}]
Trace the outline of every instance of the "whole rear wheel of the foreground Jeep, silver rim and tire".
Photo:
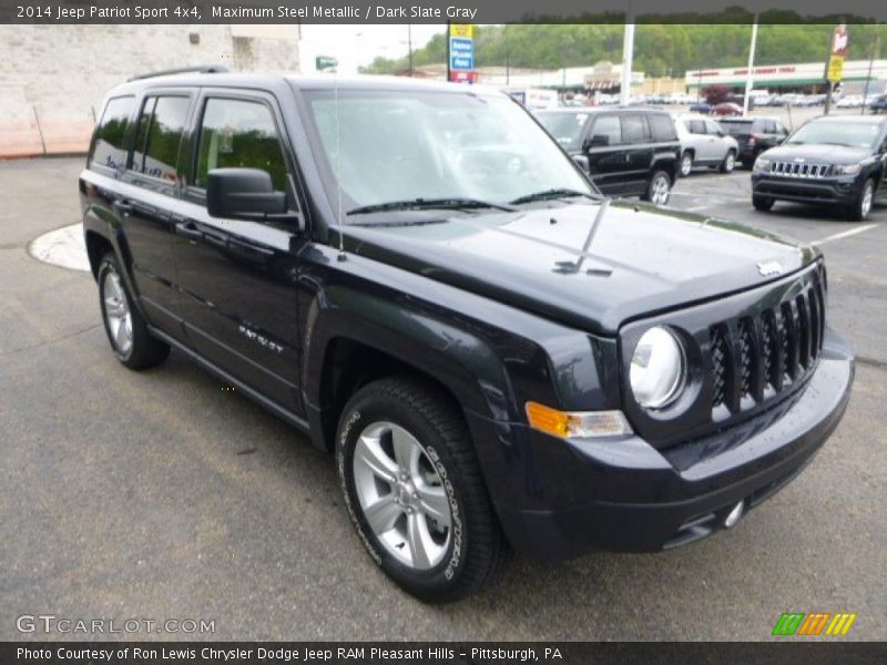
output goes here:
[{"label": "whole rear wheel of the foreground Jeep, silver rim and tire", "polygon": [[118,359],[130,369],[145,369],[163,362],[170,346],[151,336],[147,324],[133,306],[113,252],[99,264],[99,304],[104,330]]}]

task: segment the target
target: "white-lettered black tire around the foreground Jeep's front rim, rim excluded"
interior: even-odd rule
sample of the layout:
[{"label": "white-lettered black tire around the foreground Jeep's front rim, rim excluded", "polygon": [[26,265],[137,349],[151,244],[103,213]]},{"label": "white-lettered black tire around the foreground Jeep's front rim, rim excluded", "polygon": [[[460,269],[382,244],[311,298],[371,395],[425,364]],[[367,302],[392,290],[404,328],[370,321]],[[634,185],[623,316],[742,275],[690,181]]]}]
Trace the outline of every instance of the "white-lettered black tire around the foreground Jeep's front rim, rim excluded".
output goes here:
[{"label": "white-lettered black tire around the foreground Jeep's front rim, rim excluded", "polygon": [[[428,570],[398,561],[388,550],[391,544],[383,544],[376,535],[360,504],[355,450],[361,434],[379,422],[399,426],[420,442],[426,463],[434,464],[449,499],[448,545],[442,560]],[[457,601],[478,591],[499,572],[508,544],[487,494],[468,428],[459,410],[428,385],[390,377],[358,390],[339,419],[336,467],[345,505],[360,541],[370,557],[407,593],[429,603]],[[391,484],[390,495],[396,492]],[[402,519],[406,526],[409,518]],[[401,552],[405,545],[412,546],[406,544],[406,535],[402,538],[405,543],[396,545]]]}]

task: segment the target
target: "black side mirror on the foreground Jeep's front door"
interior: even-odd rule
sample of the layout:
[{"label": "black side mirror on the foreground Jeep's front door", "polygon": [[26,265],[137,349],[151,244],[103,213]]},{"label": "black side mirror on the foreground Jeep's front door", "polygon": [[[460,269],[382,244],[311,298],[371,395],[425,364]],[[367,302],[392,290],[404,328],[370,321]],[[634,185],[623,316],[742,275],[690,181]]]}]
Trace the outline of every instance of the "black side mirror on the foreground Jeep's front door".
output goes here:
[{"label": "black side mirror on the foreground Jeep's front door", "polygon": [[258,168],[214,168],[207,174],[206,209],[213,217],[254,218],[286,213],[286,194]]}]

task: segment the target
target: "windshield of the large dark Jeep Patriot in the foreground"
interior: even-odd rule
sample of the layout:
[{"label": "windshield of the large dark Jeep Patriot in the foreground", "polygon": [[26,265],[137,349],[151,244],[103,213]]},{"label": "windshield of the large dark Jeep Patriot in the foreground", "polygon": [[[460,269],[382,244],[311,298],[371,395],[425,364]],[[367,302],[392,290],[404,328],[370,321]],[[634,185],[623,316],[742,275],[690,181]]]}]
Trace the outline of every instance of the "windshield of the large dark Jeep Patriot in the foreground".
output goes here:
[{"label": "windshield of the large dark Jeep Patriot in the foreground", "polygon": [[325,185],[335,200],[340,180],[345,213],[408,201],[506,204],[551,190],[595,193],[506,96],[468,90],[339,90],[338,103],[333,90],[306,96]]}]

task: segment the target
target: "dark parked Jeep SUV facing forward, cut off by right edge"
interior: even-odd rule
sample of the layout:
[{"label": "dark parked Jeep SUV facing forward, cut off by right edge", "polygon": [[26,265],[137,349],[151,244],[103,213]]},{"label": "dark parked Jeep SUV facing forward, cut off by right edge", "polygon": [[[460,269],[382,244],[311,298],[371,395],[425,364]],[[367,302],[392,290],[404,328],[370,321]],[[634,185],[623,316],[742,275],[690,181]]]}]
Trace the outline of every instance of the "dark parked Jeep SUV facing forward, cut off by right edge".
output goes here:
[{"label": "dark parked Jeep SUV facing forward, cut off by right edge", "polygon": [[887,119],[816,117],[757,157],[752,203],[758,211],[771,209],[776,201],[833,205],[859,222],[887,193],[885,160]]}]

